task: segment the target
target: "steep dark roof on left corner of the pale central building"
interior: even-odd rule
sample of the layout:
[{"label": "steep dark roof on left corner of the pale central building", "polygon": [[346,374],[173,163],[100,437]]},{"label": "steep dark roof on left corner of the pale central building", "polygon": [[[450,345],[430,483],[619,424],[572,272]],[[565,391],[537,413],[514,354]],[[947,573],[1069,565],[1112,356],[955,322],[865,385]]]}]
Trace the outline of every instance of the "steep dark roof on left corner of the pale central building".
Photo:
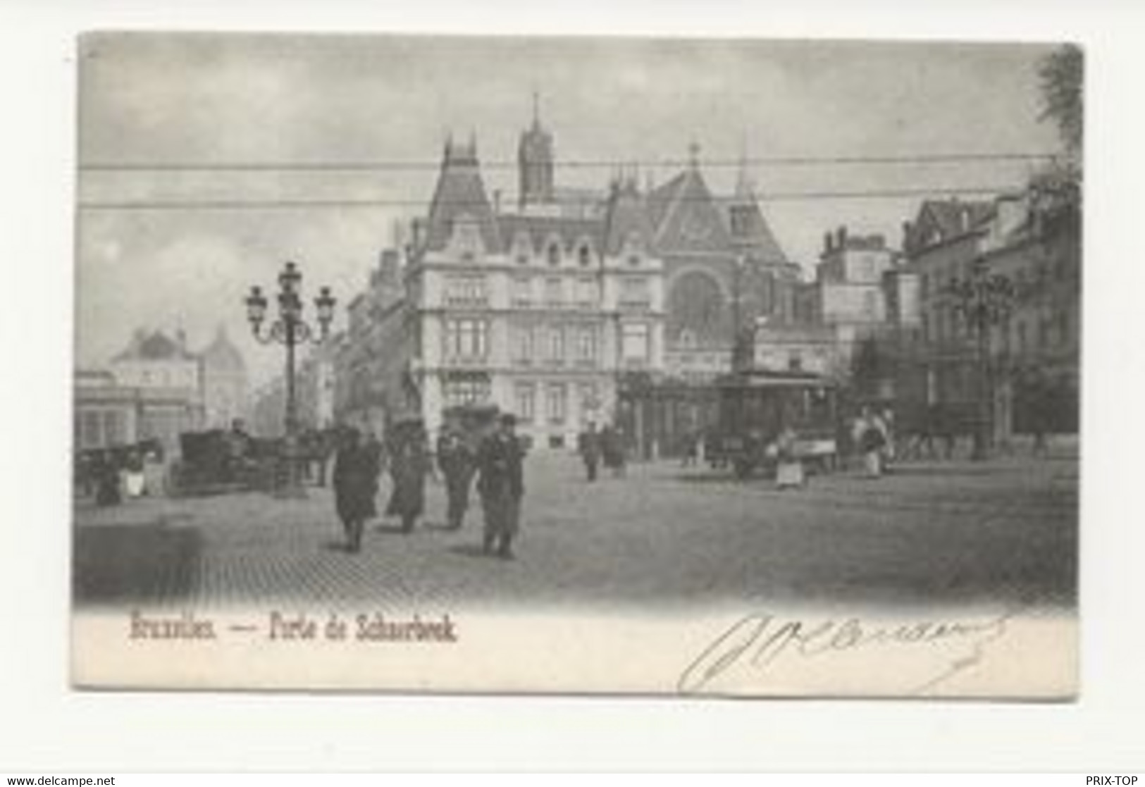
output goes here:
[{"label": "steep dark roof on left corner of the pale central building", "polygon": [[429,251],[444,249],[453,233],[453,225],[464,219],[476,222],[487,250],[500,250],[497,217],[481,180],[476,144],[471,141],[467,145],[457,145],[449,141],[429,203],[426,247]]}]

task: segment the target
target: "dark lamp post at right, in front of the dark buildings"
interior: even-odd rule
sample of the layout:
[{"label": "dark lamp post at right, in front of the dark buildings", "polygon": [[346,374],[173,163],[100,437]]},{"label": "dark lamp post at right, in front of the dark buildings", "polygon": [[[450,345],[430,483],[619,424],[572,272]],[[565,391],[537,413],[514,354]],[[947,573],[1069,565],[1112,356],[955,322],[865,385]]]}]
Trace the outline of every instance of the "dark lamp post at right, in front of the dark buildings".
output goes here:
[{"label": "dark lamp post at right, in front of the dark buildings", "polygon": [[950,286],[954,310],[966,323],[974,338],[978,365],[978,424],[974,432],[974,459],[985,459],[989,450],[993,425],[993,380],[990,379],[990,329],[1004,323],[1013,304],[1013,285],[1009,278],[992,274],[984,258],[974,260],[970,275]]}]

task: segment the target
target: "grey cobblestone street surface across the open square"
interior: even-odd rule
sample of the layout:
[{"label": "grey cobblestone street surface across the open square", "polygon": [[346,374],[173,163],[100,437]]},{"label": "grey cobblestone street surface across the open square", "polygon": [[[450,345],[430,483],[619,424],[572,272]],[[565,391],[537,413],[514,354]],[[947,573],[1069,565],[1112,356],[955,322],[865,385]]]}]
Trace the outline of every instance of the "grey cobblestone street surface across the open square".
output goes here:
[{"label": "grey cobblestone street surface across the open square", "polygon": [[[802,490],[708,469],[633,465],[585,482],[568,455],[532,456],[518,559],[479,552],[481,517],[445,530],[444,489],[412,535],[369,525],[341,549],[326,489],[141,499],[76,511],[80,605],[493,603],[643,608],[737,601],[1073,604],[1074,458],[917,463]],[[388,485],[379,495],[385,503]],[[474,496],[474,503],[475,503]]]}]

